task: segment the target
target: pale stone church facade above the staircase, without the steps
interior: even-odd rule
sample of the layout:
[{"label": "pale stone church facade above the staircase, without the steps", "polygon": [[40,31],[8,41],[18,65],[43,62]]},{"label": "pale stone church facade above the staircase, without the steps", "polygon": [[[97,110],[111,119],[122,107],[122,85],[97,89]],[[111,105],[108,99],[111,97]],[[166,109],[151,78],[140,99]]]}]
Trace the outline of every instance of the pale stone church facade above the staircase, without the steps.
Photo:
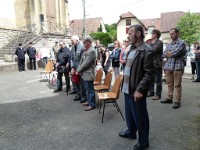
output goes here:
[{"label": "pale stone church facade above the staircase, without the steps", "polygon": [[68,0],[1,0],[0,14],[4,28],[35,25],[39,31],[42,23],[47,32],[66,32],[69,28]]}]

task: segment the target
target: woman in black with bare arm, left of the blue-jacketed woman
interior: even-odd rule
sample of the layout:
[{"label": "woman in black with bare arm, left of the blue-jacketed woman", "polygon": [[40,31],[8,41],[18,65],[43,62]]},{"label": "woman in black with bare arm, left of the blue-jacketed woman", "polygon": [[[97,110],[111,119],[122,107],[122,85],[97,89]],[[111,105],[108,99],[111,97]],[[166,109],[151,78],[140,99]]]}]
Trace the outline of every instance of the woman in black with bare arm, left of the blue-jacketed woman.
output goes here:
[{"label": "woman in black with bare arm, left of the blue-jacketed woman", "polygon": [[106,49],[105,47],[101,47],[100,55],[101,55],[101,65],[106,75],[108,73],[108,69],[110,68],[110,64],[111,64],[109,49]]}]

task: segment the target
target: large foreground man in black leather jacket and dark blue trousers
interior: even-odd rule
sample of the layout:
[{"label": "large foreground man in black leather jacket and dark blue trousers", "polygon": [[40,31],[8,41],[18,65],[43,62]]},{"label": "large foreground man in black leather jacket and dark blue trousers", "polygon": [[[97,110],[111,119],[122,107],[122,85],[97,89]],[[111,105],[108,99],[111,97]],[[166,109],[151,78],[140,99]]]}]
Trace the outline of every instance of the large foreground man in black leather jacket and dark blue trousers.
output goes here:
[{"label": "large foreground man in black leather jacket and dark blue trousers", "polygon": [[132,25],[128,30],[131,48],[127,54],[124,69],[122,92],[125,98],[125,116],[128,129],[120,132],[123,138],[136,139],[134,150],[149,147],[149,116],[147,111],[147,93],[154,80],[153,49],[144,43],[144,29],[141,25]]}]

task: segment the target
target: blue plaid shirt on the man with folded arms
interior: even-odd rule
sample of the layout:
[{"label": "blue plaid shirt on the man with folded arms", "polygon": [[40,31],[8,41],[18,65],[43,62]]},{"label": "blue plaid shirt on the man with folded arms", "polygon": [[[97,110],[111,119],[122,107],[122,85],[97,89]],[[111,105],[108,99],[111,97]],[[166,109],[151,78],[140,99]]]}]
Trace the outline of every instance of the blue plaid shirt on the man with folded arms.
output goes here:
[{"label": "blue plaid shirt on the man with folded arms", "polygon": [[177,41],[172,41],[167,45],[163,56],[166,57],[167,52],[172,52],[172,56],[167,58],[164,69],[165,70],[183,70],[184,65],[184,57],[186,54],[186,46],[185,42],[181,39]]}]

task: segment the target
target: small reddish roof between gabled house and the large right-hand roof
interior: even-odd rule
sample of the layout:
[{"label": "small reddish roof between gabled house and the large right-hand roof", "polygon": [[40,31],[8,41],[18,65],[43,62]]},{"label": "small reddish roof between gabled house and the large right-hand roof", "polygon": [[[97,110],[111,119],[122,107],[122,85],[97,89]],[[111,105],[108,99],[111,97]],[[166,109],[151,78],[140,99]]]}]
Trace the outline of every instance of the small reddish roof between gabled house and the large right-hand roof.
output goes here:
[{"label": "small reddish roof between gabled house and the large right-hand roof", "polygon": [[145,27],[154,26],[156,29],[160,30],[160,18],[154,19],[141,19],[141,22],[144,23]]}]

